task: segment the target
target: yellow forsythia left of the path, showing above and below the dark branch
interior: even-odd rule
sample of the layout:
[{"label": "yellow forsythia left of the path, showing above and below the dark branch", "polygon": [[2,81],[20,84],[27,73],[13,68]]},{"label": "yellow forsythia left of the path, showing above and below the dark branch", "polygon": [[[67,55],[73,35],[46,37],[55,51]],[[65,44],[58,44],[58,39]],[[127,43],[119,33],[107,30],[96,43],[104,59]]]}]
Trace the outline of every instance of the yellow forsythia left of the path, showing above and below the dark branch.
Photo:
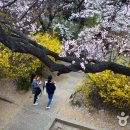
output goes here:
[{"label": "yellow forsythia left of the path, showing above and below the dark branch", "polygon": [[[60,52],[61,43],[55,35],[41,32],[29,37],[54,52]],[[28,78],[30,73],[35,72],[41,64],[38,58],[29,54],[12,53],[0,43],[0,69],[6,76]]]}]

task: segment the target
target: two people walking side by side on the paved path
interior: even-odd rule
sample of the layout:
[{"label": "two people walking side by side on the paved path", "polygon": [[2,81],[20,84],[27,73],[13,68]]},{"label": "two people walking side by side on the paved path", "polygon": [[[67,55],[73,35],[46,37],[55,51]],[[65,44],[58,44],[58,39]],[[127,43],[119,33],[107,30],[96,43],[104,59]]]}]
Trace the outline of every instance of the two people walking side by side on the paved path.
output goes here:
[{"label": "two people walking side by side on the paved path", "polygon": [[[38,105],[38,99],[39,95],[41,94],[42,90],[39,87],[39,77],[36,74],[32,74],[31,76],[31,88],[32,88],[32,93],[34,94],[34,101],[33,105]],[[43,91],[46,89],[46,92],[48,94],[48,103],[46,106],[46,109],[50,109],[50,106],[53,101],[53,95],[56,89],[56,83],[52,81],[52,76],[48,76],[48,80],[45,81],[43,85]]]}]

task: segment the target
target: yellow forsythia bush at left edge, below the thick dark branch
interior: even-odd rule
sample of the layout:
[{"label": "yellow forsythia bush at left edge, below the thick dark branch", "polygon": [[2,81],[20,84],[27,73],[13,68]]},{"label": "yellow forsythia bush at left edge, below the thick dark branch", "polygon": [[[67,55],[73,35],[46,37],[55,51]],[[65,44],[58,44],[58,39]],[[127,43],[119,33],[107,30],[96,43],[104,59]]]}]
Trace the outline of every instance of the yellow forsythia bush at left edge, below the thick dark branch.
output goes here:
[{"label": "yellow forsythia bush at left edge, below the thick dark branch", "polygon": [[3,73],[10,78],[27,78],[40,66],[40,61],[32,55],[12,53],[0,43],[0,66]]}]

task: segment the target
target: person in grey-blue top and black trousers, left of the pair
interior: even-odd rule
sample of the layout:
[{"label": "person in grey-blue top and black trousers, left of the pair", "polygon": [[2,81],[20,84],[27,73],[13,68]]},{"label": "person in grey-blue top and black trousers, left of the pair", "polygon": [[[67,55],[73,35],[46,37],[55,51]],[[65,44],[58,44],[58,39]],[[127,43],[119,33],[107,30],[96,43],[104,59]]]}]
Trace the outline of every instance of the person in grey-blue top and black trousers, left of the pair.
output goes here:
[{"label": "person in grey-blue top and black trousers, left of the pair", "polygon": [[39,87],[39,77],[35,73],[31,75],[31,88],[34,94],[33,105],[38,105],[38,96],[41,93],[41,89]]}]

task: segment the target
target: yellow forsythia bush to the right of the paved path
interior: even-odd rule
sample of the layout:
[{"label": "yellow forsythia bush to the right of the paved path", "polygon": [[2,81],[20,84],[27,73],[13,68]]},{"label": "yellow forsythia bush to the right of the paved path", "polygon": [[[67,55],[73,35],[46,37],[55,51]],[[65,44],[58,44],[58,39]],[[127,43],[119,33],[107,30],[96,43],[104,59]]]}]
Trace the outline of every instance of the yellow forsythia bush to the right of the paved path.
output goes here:
[{"label": "yellow forsythia bush to the right of the paved path", "polygon": [[87,92],[90,92],[90,89],[96,89],[104,104],[119,109],[130,109],[130,77],[106,70],[88,74],[84,84],[86,88],[83,87],[84,85],[80,87],[83,93],[85,89]]}]

